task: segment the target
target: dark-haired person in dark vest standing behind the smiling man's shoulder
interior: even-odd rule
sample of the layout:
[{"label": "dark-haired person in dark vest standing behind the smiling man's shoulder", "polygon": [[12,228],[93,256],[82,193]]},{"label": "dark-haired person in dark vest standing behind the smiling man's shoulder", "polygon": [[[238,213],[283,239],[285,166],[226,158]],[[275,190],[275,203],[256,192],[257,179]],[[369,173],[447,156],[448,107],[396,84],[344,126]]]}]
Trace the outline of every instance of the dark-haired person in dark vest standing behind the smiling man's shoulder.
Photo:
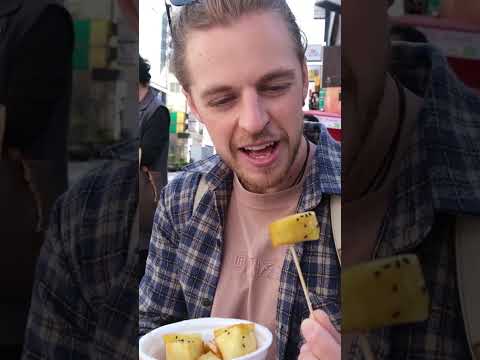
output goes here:
[{"label": "dark-haired person in dark vest standing behind the smiling man's shoulder", "polygon": [[161,187],[168,181],[168,145],[170,112],[162,105],[158,92],[150,86],[150,65],[139,56],[138,100],[140,102],[139,132],[142,166],[157,172]]}]

